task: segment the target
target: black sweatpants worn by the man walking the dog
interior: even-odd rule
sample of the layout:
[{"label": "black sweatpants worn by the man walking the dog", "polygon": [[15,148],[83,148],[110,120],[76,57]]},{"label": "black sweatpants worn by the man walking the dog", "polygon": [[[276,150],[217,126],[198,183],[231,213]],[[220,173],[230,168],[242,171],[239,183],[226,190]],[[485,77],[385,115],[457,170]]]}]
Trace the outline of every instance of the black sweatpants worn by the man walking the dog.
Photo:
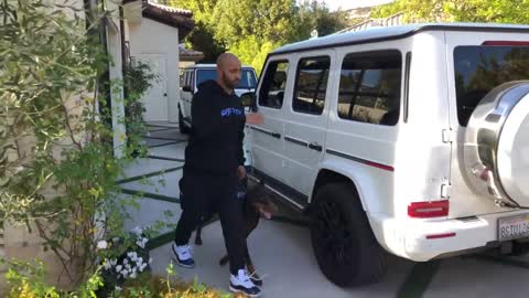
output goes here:
[{"label": "black sweatpants worn by the man walking the dog", "polygon": [[236,196],[236,178],[184,174],[180,183],[182,215],[174,237],[179,246],[188,244],[198,223],[218,212],[229,256],[229,270],[234,275],[246,265],[242,201]]}]

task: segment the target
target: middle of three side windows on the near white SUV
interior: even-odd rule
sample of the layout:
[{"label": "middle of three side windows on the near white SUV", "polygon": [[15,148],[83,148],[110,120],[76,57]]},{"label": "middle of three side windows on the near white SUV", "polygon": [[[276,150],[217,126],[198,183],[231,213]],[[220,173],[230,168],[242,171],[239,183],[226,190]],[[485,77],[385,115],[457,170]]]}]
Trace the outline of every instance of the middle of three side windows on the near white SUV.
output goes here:
[{"label": "middle of three side windows on the near white SUV", "polygon": [[302,58],[295,74],[292,109],[299,113],[321,115],[325,106],[327,91],[328,56]]}]

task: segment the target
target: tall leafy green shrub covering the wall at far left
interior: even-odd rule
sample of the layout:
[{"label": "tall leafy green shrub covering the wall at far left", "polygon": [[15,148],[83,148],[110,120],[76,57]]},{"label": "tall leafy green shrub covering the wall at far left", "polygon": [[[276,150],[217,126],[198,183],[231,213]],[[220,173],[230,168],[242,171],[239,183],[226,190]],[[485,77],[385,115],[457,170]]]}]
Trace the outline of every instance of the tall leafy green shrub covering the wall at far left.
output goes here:
[{"label": "tall leafy green shrub covering the wall at far left", "polygon": [[[0,222],[37,233],[73,284],[94,273],[96,238],[121,236],[125,206],[134,204],[115,182],[131,158],[116,159],[108,141],[110,83],[99,78],[109,58],[88,33],[104,14],[95,11],[86,28],[83,13],[67,1],[0,2]],[[145,67],[125,78],[133,117],[119,121],[132,140],[153,78]]]}]

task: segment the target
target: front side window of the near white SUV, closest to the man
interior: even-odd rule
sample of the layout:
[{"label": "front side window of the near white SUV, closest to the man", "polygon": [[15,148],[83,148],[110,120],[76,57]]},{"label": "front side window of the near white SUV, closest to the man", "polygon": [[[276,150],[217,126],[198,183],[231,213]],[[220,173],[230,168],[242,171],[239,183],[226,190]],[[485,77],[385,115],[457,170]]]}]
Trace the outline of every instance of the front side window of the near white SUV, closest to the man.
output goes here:
[{"label": "front side window of the near white SUV, closest to the man", "polygon": [[259,91],[259,106],[280,109],[287,87],[288,61],[272,61],[264,70]]}]

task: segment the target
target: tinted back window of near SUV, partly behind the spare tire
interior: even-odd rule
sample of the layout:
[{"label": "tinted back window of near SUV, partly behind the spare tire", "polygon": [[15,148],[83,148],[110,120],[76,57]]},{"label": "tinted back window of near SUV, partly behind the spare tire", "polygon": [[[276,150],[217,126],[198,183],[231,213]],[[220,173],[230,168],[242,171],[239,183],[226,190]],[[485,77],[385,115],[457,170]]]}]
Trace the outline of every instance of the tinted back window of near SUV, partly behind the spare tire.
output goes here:
[{"label": "tinted back window of near SUV, partly behind the spare tire", "polygon": [[529,47],[457,46],[454,71],[457,119],[466,126],[474,108],[494,87],[529,79]]}]

